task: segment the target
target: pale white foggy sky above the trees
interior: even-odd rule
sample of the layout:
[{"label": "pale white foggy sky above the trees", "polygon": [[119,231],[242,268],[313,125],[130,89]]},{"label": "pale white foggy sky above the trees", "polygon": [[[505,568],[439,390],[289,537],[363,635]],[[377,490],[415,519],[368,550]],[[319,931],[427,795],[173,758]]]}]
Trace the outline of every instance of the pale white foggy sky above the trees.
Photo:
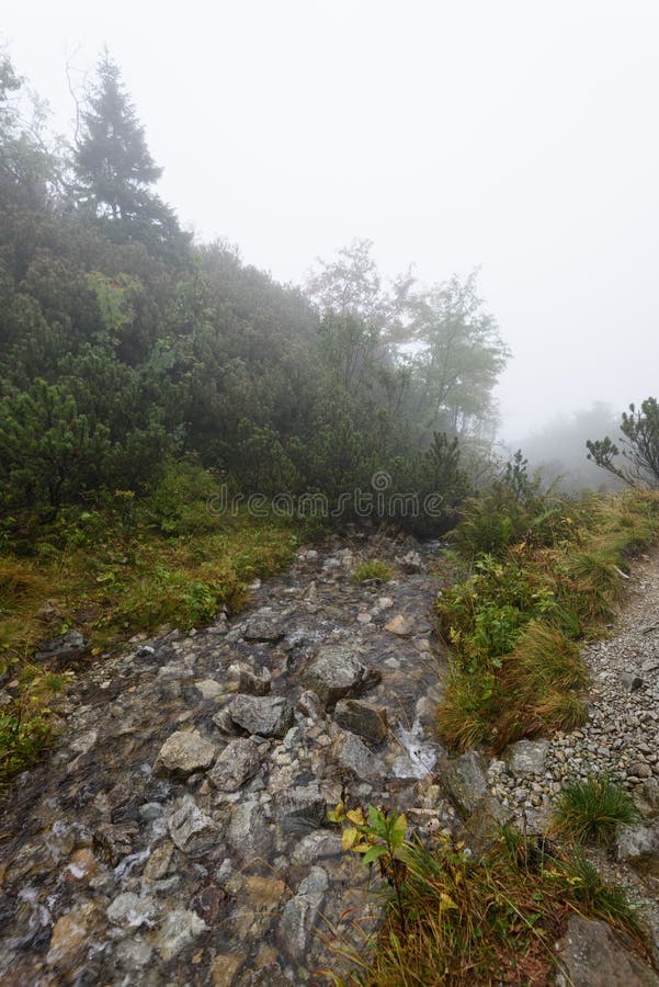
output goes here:
[{"label": "pale white foggy sky above the trees", "polygon": [[4,0],[0,31],[69,134],[67,59],[107,43],[162,196],[277,280],[355,236],[480,266],[503,436],[659,395],[655,0]]}]

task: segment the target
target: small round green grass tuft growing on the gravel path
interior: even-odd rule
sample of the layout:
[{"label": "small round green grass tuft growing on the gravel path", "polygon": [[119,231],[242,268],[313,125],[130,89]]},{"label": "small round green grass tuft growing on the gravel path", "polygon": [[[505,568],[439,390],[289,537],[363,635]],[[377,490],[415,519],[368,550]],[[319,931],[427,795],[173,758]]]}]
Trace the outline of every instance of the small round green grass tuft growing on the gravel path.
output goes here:
[{"label": "small round green grass tuft growing on the gravel path", "polygon": [[617,826],[640,818],[632,796],[606,775],[577,779],[556,799],[554,830],[578,842],[610,843]]}]

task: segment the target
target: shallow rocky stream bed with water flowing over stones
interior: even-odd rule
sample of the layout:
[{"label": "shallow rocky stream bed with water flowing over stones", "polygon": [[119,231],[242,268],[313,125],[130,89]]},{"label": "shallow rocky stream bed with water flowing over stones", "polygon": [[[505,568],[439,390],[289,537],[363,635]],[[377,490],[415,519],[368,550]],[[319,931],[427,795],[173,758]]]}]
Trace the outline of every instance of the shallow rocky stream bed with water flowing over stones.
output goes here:
[{"label": "shallow rocky stream bed with water flowing over stones", "polygon": [[[436,552],[303,552],[242,614],[80,672],[53,752],[3,797],[0,982],[329,983],[376,906],[327,809],[405,805],[420,831],[455,815],[432,740]],[[357,554],[395,580],[355,586]]]}]

